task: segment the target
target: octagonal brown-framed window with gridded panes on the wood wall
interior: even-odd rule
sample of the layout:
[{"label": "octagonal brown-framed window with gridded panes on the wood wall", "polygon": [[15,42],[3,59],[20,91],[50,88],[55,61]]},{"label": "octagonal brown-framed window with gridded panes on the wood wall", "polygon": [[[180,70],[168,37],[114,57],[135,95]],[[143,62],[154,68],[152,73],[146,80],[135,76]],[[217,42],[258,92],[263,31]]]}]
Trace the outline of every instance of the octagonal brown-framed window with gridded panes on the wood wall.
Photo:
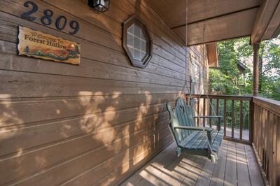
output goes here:
[{"label": "octagonal brown-framed window with gridded panes on the wood wall", "polygon": [[151,60],[151,37],[137,17],[131,17],[123,25],[123,48],[134,66],[144,68]]}]

